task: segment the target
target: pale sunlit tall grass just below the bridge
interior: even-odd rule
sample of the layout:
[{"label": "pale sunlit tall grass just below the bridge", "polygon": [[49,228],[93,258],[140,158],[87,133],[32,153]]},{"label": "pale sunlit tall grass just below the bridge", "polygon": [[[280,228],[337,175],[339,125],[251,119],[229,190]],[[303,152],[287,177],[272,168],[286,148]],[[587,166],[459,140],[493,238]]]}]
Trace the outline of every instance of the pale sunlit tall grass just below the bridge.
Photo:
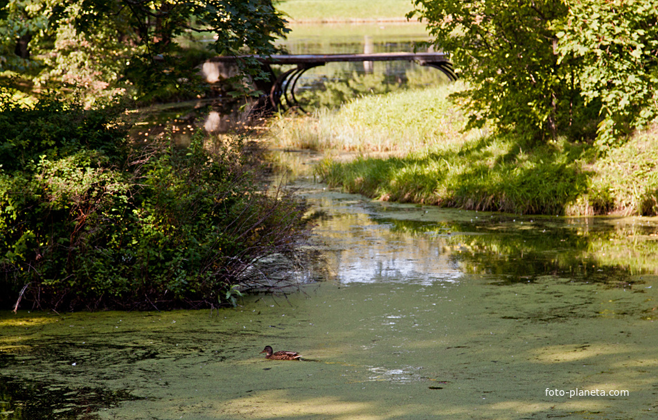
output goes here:
[{"label": "pale sunlit tall grass just below the bridge", "polygon": [[461,87],[452,84],[363,96],[338,110],[321,108],[310,116],[281,116],[272,121],[272,146],[398,156],[419,148],[450,148],[482,134],[463,132],[465,119],[447,99]]}]

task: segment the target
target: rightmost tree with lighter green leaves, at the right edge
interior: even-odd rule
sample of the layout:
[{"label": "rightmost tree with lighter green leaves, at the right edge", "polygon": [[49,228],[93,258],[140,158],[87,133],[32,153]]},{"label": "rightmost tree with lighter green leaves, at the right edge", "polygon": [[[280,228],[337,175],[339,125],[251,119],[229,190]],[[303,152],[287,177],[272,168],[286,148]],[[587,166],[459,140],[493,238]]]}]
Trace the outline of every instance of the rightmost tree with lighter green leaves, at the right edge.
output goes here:
[{"label": "rightmost tree with lighter green leaves, at the right edge", "polygon": [[556,25],[560,60],[579,60],[583,96],[601,103],[611,143],[658,116],[658,0],[568,0]]}]

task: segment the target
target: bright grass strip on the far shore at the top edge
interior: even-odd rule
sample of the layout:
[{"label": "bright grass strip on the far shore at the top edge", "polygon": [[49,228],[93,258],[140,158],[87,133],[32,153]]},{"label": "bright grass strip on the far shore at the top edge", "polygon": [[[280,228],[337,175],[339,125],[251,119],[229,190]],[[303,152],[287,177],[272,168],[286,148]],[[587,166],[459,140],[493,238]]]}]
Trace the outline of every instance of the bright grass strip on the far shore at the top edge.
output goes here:
[{"label": "bright grass strip on the far shore at the top edge", "polygon": [[294,21],[405,19],[411,0],[283,0],[275,7]]}]

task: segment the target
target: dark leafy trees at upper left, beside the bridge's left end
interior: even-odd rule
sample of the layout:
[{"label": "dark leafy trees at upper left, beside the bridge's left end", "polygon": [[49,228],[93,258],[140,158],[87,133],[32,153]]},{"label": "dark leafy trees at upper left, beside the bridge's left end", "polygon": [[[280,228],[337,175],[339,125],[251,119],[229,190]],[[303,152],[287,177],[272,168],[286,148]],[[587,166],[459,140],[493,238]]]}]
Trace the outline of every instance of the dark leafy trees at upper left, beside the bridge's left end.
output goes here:
[{"label": "dark leafy trees at upper left, beside the bridge's left end", "polygon": [[198,63],[185,60],[182,37],[214,33],[206,54],[269,55],[285,23],[271,0],[4,0],[0,72],[92,94],[133,86],[150,98],[193,88]]}]

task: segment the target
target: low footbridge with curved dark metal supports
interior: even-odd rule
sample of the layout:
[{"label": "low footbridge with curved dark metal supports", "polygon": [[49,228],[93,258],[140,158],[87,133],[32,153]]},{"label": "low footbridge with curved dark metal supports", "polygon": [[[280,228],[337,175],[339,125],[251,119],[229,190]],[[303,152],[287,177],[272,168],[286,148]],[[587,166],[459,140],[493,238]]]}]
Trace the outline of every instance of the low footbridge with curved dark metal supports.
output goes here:
[{"label": "low footbridge with curved dark metal supports", "polygon": [[[380,54],[308,54],[308,55],[244,55],[238,57],[215,57],[209,62],[234,63],[240,59],[256,59],[269,74],[269,80],[254,80],[256,87],[265,92],[257,105],[260,110],[286,110],[290,107],[300,107],[295,98],[294,89],[297,80],[309,69],[323,66],[328,62],[374,62],[374,61],[413,61],[421,66],[434,67],[442,71],[450,80],[457,80],[452,63],[447,60],[444,53],[380,53]],[[272,64],[296,64],[296,67],[284,71],[276,76],[272,71]]]}]

